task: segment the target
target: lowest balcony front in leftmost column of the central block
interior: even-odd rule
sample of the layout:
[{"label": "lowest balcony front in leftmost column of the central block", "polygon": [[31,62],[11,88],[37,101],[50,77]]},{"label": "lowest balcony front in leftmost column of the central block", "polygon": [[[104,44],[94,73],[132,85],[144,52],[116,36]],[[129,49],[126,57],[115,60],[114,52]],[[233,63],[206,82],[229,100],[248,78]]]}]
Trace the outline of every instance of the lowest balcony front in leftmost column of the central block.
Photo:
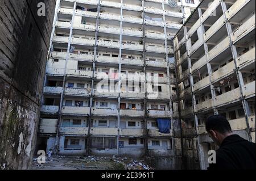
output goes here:
[{"label": "lowest balcony front in leftmost column of the central block", "polygon": [[39,133],[56,133],[57,119],[41,119]]}]

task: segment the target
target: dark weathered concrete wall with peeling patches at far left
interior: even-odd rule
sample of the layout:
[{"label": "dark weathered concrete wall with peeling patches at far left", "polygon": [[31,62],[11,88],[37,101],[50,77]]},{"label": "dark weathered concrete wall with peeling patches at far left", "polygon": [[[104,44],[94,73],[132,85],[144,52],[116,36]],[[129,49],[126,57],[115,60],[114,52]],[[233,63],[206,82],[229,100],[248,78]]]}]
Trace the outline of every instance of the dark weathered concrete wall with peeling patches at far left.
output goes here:
[{"label": "dark weathered concrete wall with peeling patches at far left", "polygon": [[[38,16],[39,2],[46,16]],[[1,169],[30,169],[55,3],[0,1]]]}]

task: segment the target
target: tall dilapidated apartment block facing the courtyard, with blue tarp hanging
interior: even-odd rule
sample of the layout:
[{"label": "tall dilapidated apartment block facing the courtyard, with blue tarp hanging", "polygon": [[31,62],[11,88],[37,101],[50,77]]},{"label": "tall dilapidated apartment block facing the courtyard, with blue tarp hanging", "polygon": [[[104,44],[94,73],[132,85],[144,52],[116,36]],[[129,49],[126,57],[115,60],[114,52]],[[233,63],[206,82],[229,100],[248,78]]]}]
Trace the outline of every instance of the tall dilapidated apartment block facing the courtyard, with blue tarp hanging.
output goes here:
[{"label": "tall dilapidated apartment block facing the courtyard, with blue tarp hanging", "polygon": [[[146,155],[174,168],[181,146],[172,38],[198,4],[57,1],[36,150]],[[168,123],[164,131],[157,122]]]}]

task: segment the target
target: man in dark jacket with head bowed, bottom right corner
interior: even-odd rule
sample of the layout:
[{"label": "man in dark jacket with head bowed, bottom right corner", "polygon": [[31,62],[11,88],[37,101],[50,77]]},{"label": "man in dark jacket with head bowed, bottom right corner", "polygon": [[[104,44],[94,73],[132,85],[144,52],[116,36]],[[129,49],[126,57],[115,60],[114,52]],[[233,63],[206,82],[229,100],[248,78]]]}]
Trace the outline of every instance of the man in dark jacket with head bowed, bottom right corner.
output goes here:
[{"label": "man in dark jacket with head bowed, bottom right corner", "polygon": [[216,163],[210,163],[208,170],[255,169],[255,144],[233,134],[225,117],[210,116],[206,130],[212,140],[220,146],[216,151]]}]

